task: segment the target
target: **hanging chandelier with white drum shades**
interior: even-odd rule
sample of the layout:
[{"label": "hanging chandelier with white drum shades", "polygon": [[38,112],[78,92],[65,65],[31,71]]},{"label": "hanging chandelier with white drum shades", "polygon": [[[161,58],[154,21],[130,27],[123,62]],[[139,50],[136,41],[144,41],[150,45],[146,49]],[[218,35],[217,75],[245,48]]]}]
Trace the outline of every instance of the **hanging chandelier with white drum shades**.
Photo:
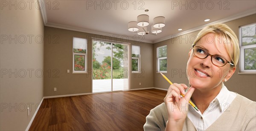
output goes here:
[{"label": "hanging chandelier with white drum shades", "polygon": [[[145,10],[148,12],[148,9]],[[139,35],[154,34],[162,32],[162,27],[165,26],[165,17],[159,16],[153,19],[153,25],[151,31],[148,31],[149,16],[147,14],[141,14],[137,17],[137,21],[131,21],[128,23],[128,31]],[[137,31],[137,32],[136,32]]]}]

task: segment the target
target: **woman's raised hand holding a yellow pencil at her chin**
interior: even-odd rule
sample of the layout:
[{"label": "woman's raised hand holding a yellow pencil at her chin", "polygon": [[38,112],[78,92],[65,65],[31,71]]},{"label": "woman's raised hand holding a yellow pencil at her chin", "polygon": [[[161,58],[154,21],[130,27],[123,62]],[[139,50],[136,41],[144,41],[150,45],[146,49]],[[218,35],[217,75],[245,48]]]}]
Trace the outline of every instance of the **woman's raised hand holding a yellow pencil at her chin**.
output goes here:
[{"label": "woman's raised hand holding a yellow pencil at her chin", "polygon": [[[166,130],[182,130],[186,115],[189,110],[189,100],[195,88],[190,87],[185,94],[185,84],[174,83],[170,85],[164,103],[168,113],[168,121],[166,122]],[[185,94],[185,97],[180,97]]]}]

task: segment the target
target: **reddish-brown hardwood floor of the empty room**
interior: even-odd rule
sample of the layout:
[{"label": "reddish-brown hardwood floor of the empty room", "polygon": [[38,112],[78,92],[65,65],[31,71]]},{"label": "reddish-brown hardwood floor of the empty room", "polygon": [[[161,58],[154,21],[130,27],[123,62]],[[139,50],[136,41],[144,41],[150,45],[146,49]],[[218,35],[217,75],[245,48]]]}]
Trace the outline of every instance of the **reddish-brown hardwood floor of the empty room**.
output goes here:
[{"label": "reddish-brown hardwood floor of the empty room", "polygon": [[29,131],[143,131],[145,118],[163,103],[157,89],[44,99]]}]

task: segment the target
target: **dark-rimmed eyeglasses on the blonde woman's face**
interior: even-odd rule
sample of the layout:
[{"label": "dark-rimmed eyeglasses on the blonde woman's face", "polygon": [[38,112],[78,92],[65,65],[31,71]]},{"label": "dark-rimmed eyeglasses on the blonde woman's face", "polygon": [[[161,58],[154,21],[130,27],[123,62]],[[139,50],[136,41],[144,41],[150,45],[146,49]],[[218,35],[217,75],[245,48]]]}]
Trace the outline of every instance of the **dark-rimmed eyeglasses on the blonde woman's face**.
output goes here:
[{"label": "dark-rimmed eyeglasses on the blonde woman's face", "polygon": [[[193,53],[194,53],[195,57],[198,57],[200,59],[205,59],[206,57],[210,56],[213,65],[222,67],[222,66],[226,65],[227,63],[230,63],[223,57],[220,57],[218,55],[209,54],[204,48],[201,48],[198,46],[192,46],[192,48],[193,48]],[[230,63],[230,65],[234,65],[234,64]]]}]

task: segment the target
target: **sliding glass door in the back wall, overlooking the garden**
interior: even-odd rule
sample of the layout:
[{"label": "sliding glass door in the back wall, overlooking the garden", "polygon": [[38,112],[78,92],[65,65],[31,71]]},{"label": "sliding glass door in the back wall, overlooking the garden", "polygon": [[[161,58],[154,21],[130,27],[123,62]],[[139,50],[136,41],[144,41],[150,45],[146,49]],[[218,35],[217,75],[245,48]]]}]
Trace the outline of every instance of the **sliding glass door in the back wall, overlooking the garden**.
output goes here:
[{"label": "sliding glass door in the back wall, overlooking the garden", "polygon": [[93,40],[93,93],[128,90],[128,45]]}]

